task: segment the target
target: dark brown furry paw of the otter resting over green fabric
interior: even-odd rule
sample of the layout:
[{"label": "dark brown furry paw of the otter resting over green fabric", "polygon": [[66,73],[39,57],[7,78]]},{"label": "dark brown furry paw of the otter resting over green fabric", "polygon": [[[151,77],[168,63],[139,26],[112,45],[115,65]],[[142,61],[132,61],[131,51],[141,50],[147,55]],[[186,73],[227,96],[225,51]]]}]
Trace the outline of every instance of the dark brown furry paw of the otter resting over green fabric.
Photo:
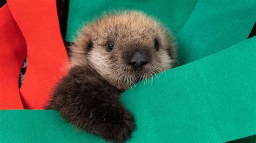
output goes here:
[{"label": "dark brown furry paw of the otter resting over green fabric", "polygon": [[92,132],[105,140],[123,142],[131,137],[135,128],[134,119],[130,112],[118,106],[109,106],[94,113],[98,118]]}]

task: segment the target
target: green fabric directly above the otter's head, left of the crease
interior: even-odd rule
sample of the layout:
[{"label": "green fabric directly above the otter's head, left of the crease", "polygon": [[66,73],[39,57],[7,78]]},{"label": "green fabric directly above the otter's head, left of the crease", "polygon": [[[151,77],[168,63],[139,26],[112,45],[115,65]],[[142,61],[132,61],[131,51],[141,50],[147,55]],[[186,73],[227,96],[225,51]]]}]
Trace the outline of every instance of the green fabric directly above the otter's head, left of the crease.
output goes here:
[{"label": "green fabric directly above the otter's head, left of the crease", "polygon": [[[141,10],[158,18],[173,33],[178,33],[196,5],[197,0],[190,1],[123,1],[123,0],[96,0],[70,1],[68,31],[66,40],[73,41],[81,26],[99,17],[102,13],[111,10]],[[164,15],[163,15],[164,14]]]}]

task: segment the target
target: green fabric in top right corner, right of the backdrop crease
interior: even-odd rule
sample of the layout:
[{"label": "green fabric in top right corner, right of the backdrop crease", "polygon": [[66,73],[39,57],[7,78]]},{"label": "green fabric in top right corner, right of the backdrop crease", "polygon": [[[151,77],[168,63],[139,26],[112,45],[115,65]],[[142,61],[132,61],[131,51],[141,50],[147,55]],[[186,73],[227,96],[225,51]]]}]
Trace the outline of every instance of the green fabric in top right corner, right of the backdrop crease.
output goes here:
[{"label": "green fabric in top right corner, right of the backdrop crease", "polygon": [[244,41],[256,21],[256,1],[198,1],[177,35],[181,65]]}]

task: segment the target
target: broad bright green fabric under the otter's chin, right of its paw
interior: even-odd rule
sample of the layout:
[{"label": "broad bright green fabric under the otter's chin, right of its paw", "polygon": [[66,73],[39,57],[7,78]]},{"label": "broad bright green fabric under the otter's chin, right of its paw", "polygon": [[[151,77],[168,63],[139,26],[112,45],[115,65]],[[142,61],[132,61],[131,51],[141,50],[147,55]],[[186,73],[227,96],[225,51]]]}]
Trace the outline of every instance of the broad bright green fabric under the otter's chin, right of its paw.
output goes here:
[{"label": "broad bright green fabric under the otter's chin, right of its paw", "polygon": [[255,134],[255,47],[256,37],[125,92],[122,103],[138,125],[130,141],[224,142]]}]

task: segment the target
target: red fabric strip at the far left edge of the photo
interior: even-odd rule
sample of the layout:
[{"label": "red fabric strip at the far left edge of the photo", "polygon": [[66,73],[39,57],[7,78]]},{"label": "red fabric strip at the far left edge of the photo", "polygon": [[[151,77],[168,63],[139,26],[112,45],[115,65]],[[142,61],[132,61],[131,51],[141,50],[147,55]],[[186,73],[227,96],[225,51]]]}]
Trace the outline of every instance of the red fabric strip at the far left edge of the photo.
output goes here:
[{"label": "red fabric strip at the far left edge of the photo", "polygon": [[26,58],[26,43],[8,5],[0,9],[0,109],[23,109],[18,78]]}]

